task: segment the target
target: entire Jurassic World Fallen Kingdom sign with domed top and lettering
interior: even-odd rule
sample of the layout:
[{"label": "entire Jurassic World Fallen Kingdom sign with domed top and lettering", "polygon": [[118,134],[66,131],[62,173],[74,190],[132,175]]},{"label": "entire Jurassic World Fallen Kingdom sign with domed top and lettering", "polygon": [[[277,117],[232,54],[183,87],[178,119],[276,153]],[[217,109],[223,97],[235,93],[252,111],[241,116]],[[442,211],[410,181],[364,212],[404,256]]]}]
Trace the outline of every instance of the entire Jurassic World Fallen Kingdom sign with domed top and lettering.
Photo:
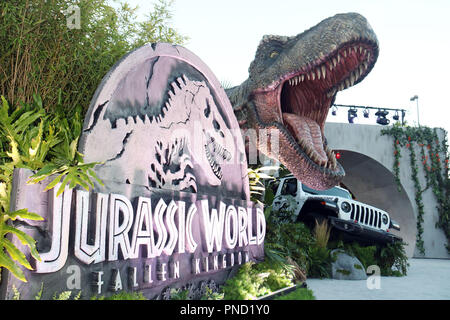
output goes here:
[{"label": "entire Jurassic World Fallen Kingdom sign with domed top and lettering", "polygon": [[67,290],[165,298],[167,288],[222,283],[263,259],[266,224],[250,201],[237,120],[188,50],[153,44],[122,58],[92,99],[79,151],[101,163],[103,186],[57,196],[58,186],[44,191],[50,180],[29,185],[31,171],[14,172],[12,209],[45,220],[21,223],[41,261],[24,270],[27,283],[5,272],[3,297],[14,286],[22,299],[41,288],[43,298]]}]

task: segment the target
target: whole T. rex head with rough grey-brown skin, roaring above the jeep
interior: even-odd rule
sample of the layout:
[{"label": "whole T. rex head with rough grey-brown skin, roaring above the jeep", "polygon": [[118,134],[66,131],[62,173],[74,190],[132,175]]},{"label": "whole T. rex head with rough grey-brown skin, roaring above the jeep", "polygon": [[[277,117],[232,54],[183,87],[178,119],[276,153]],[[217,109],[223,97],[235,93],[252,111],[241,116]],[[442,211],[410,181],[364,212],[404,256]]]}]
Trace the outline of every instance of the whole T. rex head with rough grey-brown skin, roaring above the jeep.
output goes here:
[{"label": "whole T. rex head with rough grey-brown skin, roaring above the jeep", "polygon": [[377,57],[367,20],[337,14],[293,37],[264,36],[249,78],[226,92],[241,129],[256,132],[260,152],[307,186],[329,189],[345,172],[324,137],[328,110],[337,92],[364,79]]}]

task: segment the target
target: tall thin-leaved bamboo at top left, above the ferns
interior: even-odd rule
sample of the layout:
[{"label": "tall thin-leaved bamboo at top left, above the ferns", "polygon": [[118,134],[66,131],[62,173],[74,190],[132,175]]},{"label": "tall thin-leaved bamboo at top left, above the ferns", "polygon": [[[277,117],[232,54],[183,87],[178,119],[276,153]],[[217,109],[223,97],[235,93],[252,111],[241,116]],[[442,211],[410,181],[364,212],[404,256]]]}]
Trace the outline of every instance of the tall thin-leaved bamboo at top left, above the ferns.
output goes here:
[{"label": "tall thin-leaved bamboo at top left, above the ferns", "polygon": [[[80,29],[70,29],[69,7],[80,9]],[[144,21],[119,0],[0,1],[0,94],[13,105],[39,92],[48,109],[64,92],[67,109],[85,110],[107,71],[145,43],[182,44],[170,27],[172,1],[153,5]]]}]

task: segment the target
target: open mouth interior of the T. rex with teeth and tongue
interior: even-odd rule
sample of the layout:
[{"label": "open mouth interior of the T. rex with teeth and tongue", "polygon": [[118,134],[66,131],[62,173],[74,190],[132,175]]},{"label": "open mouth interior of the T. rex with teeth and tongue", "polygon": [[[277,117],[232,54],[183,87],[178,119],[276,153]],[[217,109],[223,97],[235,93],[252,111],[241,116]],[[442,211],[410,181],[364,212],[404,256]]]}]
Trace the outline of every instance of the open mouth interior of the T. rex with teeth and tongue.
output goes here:
[{"label": "open mouth interior of the T. rex with teeth and tongue", "polygon": [[337,169],[336,158],[323,135],[328,109],[336,92],[366,76],[374,62],[371,59],[375,47],[363,42],[345,44],[313,66],[280,81],[277,90],[282,121],[307,156],[321,167]]}]

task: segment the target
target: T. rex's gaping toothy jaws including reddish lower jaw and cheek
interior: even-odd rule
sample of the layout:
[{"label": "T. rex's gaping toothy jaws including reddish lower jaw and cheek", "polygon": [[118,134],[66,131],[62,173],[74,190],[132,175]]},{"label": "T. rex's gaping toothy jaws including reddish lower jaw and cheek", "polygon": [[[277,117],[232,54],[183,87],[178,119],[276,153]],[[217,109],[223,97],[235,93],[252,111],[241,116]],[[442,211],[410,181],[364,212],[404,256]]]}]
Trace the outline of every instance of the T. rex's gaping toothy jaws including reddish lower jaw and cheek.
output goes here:
[{"label": "T. rex's gaping toothy jaws including reddish lower jaw and cheek", "polygon": [[[270,119],[282,124],[279,157],[286,157],[282,153],[295,152],[311,170],[320,171],[325,179],[310,183],[317,189],[335,185],[345,174],[324,136],[328,110],[338,91],[353,86],[367,75],[376,59],[375,50],[376,44],[369,41],[345,43],[314,64],[288,73],[253,93],[263,122]],[[285,164],[288,169],[291,167],[291,172],[299,171],[289,162]],[[297,177],[306,174],[311,173],[304,170]]]}]

